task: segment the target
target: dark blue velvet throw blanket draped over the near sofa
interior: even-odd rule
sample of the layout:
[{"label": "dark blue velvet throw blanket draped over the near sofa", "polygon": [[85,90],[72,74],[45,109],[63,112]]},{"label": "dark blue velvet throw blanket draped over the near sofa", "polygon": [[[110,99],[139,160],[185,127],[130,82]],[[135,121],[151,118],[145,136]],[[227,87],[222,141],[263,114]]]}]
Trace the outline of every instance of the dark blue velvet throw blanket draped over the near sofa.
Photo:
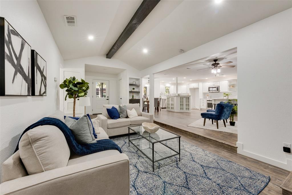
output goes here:
[{"label": "dark blue velvet throw blanket draped over the near sofa", "polygon": [[[88,155],[88,154],[92,154],[92,153],[96,153],[96,152],[100,152],[100,151],[105,151],[105,150],[118,150],[120,153],[122,153],[121,148],[116,143],[114,143],[114,141],[112,141],[110,139],[101,139],[101,140],[96,141],[96,143],[94,143],[94,144],[78,144],[75,141],[74,135],[72,134],[71,130],[64,122],[62,122],[59,119],[50,118],[50,117],[42,118],[41,120],[39,120],[36,123],[27,127],[24,130],[24,132],[21,134],[20,138],[28,130],[31,130],[34,127],[38,127],[41,125],[53,125],[55,127],[58,127],[62,131],[62,133],[64,134],[69,147],[77,155]],[[19,145],[20,138],[18,140],[18,144],[17,144],[14,152],[18,151],[18,145]]]}]

